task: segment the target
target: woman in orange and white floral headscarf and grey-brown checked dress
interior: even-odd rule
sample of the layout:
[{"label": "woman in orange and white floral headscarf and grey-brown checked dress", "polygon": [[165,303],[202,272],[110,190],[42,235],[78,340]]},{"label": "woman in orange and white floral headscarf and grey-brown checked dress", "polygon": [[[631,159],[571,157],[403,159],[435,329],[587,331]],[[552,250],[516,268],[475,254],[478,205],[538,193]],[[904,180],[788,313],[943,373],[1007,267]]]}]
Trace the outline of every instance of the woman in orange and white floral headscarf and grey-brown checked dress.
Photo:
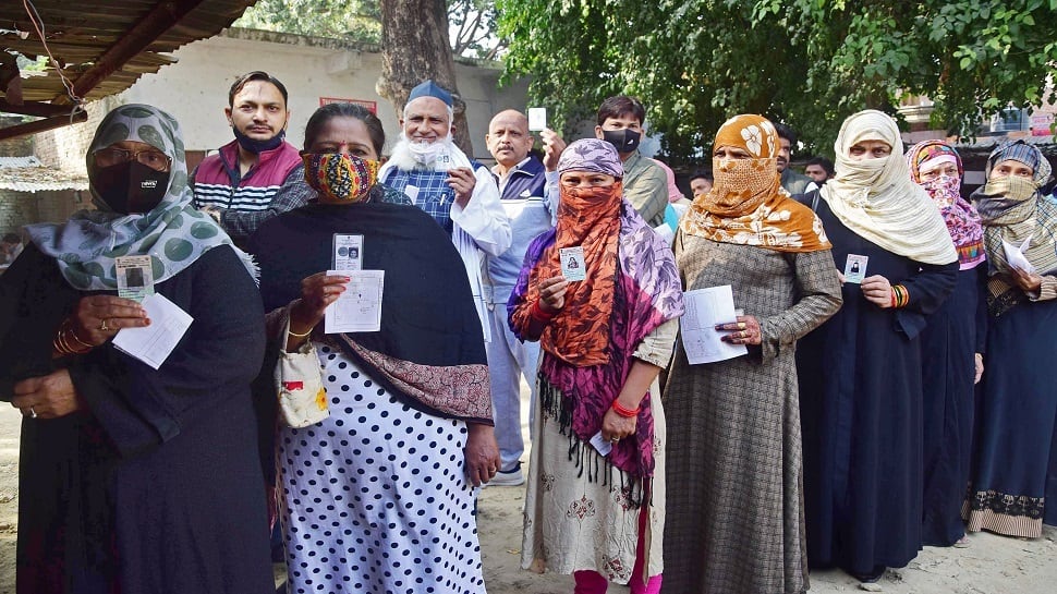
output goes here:
[{"label": "woman in orange and white floral headscarf and grey-brown checked dress", "polygon": [[664,400],[679,485],[668,490],[664,592],[802,592],[793,355],[840,307],[840,283],[822,223],[780,186],[775,126],[738,116],[713,146],[715,185],[680,225],[676,260],[688,291],[731,286],[745,315],[716,330],[748,354],[691,364],[677,342]]}]

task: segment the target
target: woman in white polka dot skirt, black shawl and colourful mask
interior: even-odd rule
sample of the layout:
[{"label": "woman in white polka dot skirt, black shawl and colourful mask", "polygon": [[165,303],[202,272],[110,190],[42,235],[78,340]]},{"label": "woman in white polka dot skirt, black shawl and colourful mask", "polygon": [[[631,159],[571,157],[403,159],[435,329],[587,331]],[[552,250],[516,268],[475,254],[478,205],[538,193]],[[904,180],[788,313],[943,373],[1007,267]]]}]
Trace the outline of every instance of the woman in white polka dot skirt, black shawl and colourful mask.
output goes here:
[{"label": "woman in white polka dot skirt, black shawl and colourful mask", "polygon": [[[289,592],[479,594],[476,487],[499,464],[481,323],[445,231],[375,183],[384,143],[363,108],[317,110],[312,202],[251,241],[265,306],[279,307],[269,328],[289,319],[276,342],[315,352],[329,410],[277,435]],[[320,271],[336,233],[362,235],[363,269],[385,271],[380,331],[325,334],[326,307],[357,290],[354,272]]]}]

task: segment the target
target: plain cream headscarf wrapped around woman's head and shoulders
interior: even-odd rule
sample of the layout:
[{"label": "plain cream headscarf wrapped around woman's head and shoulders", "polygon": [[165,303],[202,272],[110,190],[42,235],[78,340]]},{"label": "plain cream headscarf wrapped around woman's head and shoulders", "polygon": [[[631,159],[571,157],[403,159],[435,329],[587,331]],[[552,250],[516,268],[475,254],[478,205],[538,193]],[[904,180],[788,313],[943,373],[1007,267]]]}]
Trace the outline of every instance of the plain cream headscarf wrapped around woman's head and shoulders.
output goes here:
[{"label": "plain cream headscarf wrapped around woman's head and shoulders", "polygon": [[[892,154],[855,160],[851,147],[863,141],[882,141]],[[845,227],[888,252],[924,264],[955,262],[947,225],[910,179],[902,149],[899,128],[887,114],[867,109],[850,116],[834,143],[837,174],[822,186],[822,198]]]}]

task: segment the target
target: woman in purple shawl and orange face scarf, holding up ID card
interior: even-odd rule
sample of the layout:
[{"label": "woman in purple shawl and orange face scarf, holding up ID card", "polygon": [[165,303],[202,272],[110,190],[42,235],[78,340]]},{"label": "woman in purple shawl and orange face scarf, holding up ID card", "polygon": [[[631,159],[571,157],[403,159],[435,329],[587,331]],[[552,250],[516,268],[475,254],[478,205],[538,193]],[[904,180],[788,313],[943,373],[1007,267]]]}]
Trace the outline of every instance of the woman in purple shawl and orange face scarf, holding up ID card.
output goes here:
[{"label": "woman in purple shawl and orange face scarf, holding up ID card", "polygon": [[[508,304],[514,332],[543,349],[522,567],[572,573],[576,594],[609,582],[655,594],[665,528],[657,375],[683,312],[679,275],[667,242],[623,198],[611,144],[572,143],[558,173],[558,225],[528,247]],[[564,278],[570,247],[582,250],[583,280]]]}]

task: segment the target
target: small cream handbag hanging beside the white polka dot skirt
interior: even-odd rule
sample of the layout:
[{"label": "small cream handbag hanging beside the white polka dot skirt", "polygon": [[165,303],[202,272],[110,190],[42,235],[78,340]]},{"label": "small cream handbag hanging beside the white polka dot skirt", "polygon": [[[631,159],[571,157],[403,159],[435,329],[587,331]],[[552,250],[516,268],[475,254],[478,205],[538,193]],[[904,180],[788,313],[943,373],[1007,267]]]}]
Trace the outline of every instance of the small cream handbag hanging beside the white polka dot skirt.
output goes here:
[{"label": "small cream handbag hanging beside the white polka dot skirt", "polygon": [[[287,338],[289,329],[288,315],[282,324],[280,340]],[[312,341],[306,341],[296,352],[279,351],[276,391],[279,393],[279,416],[288,427],[307,427],[330,416],[323,372]]]}]

